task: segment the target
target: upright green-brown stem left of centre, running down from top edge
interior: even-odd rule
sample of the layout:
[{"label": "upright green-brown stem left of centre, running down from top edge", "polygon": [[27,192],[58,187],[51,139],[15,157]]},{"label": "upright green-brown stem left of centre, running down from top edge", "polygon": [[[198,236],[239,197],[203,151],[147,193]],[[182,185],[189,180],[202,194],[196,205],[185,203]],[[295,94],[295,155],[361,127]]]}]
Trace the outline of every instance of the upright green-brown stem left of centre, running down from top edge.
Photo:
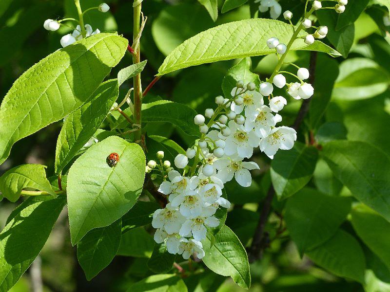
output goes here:
[{"label": "upright green-brown stem left of centre, running down from top edge", "polygon": [[[140,18],[141,18],[141,3],[134,7],[134,22],[133,22],[133,41],[136,40],[140,30]],[[133,64],[140,62],[140,47],[137,46],[137,51],[133,54]],[[134,77],[134,118],[135,123],[141,125],[141,106],[142,106],[142,86],[141,86],[141,74],[138,73]],[[134,133],[135,141],[141,139],[142,128]]]}]

